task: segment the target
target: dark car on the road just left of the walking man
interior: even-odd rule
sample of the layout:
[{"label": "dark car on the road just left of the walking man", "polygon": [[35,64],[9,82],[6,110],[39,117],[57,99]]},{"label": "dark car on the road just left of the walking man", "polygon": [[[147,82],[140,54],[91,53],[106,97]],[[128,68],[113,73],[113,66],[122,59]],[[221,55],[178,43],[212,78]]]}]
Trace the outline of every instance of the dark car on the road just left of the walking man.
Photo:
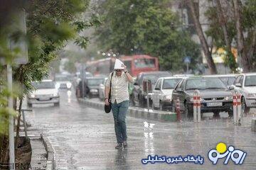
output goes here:
[{"label": "dark car on the road just left of the walking man", "polygon": [[[85,79],[85,97],[93,98],[99,97],[99,86],[103,84],[105,81],[105,77],[87,77]],[[82,96],[82,81],[79,82],[76,89],[77,97]]]}]

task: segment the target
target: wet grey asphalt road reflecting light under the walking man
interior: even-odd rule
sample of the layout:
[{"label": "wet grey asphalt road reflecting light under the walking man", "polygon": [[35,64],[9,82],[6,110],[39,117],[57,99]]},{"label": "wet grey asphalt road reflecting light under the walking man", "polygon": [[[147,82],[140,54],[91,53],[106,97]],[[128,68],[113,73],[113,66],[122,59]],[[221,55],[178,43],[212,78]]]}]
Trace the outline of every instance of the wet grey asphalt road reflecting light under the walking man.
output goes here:
[{"label": "wet grey asphalt road reflecting light under the walking man", "polygon": [[[256,133],[250,129],[252,114],[242,126],[234,126],[223,114],[219,119],[204,118],[193,122],[164,123],[127,117],[128,148],[114,149],[112,114],[78,103],[73,92],[60,92],[60,107],[33,106],[27,113],[33,128],[48,136],[55,151],[56,169],[256,169]],[[208,152],[218,142],[247,152],[245,162],[235,165],[220,159],[213,165]],[[204,164],[142,164],[151,155],[204,158]]]}]

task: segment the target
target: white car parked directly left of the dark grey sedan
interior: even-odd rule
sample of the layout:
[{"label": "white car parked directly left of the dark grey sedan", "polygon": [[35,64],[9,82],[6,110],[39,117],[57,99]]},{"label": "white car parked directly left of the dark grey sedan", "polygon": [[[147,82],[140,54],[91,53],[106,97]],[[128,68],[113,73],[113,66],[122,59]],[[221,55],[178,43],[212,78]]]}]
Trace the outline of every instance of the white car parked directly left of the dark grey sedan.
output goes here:
[{"label": "white car parked directly left of the dark grey sedan", "polygon": [[183,77],[161,77],[156,81],[156,86],[151,94],[152,107],[159,108],[161,111],[164,108],[171,109],[171,95],[176,84]]}]

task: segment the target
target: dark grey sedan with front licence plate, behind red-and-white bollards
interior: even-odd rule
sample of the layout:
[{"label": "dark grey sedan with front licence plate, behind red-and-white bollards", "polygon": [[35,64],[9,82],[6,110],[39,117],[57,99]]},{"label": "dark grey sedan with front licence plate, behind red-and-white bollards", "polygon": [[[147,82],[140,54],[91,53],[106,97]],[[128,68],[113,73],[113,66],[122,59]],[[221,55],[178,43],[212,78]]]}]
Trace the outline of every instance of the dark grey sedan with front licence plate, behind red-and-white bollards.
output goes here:
[{"label": "dark grey sedan with front licence plate, behind red-and-white bollards", "polygon": [[[172,105],[176,99],[181,101],[181,111],[186,117],[193,116],[193,91],[200,91],[201,113],[213,112],[218,116],[221,111],[233,115],[233,95],[218,77],[189,77],[180,81],[172,94]],[[173,107],[174,109],[174,107]]]}]

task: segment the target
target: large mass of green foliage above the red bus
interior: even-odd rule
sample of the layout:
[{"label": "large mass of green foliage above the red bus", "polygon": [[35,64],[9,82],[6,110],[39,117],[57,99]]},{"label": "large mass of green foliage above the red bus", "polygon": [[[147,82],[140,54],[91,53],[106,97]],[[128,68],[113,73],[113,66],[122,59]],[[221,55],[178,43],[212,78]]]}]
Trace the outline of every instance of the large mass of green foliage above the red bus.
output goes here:
[{"label": "large mass of green foliage above the red bus", "polygon": [[185,30],[177,28],[178,18],[167,7],[167,1],[109,0],[101,7],[102,26],[96,35],[103,50],[156,56],[162,69],[174,72],[182,72],[183,57],[198,60],[198,46]]}]

